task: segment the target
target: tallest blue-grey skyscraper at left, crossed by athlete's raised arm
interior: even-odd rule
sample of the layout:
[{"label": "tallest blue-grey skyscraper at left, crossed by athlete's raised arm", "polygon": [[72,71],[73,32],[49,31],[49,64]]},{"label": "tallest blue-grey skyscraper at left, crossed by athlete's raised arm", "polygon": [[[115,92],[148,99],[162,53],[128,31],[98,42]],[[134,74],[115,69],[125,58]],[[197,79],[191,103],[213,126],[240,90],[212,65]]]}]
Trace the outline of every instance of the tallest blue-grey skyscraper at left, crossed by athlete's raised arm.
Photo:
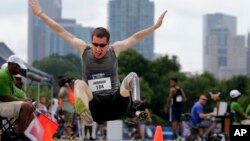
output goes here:
[{"label": "tallest blue-grey skyscraper at left, crossed by athlete's raised arm", "polygon": [[[61,0],[39,1],[43,11],[53,19],[61,19]],[[31,9],[28,12],[28,64],[45,57],[46,26],[35,16]]]}]

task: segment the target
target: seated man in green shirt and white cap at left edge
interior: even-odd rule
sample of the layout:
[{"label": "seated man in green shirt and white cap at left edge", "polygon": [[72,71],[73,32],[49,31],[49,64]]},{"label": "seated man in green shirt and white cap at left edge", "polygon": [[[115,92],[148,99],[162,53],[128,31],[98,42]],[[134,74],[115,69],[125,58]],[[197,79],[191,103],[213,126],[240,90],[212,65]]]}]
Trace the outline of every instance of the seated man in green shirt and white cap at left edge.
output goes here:
[{"label": "seated man in green shirt and white cap at left edge", "polygon": [[25,138],[24,131],[32,121],[35,107],[28,99],[16,96],[17,87],[13,75],[20,73],[21,68],[26,69],[24,62],[16,55],[8,58],[8,67],[0,70],[0,115],[7,118],[18,119],[18,134]]}]

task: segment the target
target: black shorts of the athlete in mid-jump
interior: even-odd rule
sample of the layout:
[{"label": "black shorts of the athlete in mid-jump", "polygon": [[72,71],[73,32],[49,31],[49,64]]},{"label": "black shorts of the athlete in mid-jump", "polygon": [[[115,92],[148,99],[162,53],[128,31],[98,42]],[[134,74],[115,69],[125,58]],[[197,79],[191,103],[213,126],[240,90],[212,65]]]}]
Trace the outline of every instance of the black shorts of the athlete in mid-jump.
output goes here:
[{"label": "black shorts of the athlete in mid-jump", "polygon": [[96,122],[121,119],[129,109],[130,98],[122,97],[120,90],[111,95],[93,95],[89,109]]}]

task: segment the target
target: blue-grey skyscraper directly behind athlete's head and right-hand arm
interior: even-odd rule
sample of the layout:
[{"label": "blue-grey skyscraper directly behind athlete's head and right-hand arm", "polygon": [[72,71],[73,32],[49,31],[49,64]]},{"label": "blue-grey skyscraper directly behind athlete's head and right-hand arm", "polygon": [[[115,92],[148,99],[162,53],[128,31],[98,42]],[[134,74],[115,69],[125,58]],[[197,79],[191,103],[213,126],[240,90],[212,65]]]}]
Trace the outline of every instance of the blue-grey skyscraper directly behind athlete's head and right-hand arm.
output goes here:
[{"label": "blue-grey skyscraper directly behind athlete's head and right-hand arm", "polygon": [[[110,0],[108,27],[111,42],[126,39],[154,24],[154,2],[149,0]],[[147,59],[154,58],[154,33],[133,47]]]}]

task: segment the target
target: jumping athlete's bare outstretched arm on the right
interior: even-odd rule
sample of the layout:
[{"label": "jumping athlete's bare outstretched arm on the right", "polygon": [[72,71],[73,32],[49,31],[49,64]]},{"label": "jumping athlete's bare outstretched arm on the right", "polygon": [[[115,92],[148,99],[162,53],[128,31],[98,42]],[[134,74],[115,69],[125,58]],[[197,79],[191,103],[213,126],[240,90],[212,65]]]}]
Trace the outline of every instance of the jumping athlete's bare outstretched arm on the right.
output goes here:
[{"label": "jumping athlete's bare outstretched arm on the right", "polygon": [[132,36],[128,37],[127,39],[123,41],[115,42],[114,50],[115,50],[116,56],[118,56],[120,52],[132,47],[133,45],[135,45],[136,43],[138,43],[139,41],[147,37],[150,33],[158,29],[162,25],[162,21],[166,13],[167,11],[164,11],[154,25],[134,33]]}]

